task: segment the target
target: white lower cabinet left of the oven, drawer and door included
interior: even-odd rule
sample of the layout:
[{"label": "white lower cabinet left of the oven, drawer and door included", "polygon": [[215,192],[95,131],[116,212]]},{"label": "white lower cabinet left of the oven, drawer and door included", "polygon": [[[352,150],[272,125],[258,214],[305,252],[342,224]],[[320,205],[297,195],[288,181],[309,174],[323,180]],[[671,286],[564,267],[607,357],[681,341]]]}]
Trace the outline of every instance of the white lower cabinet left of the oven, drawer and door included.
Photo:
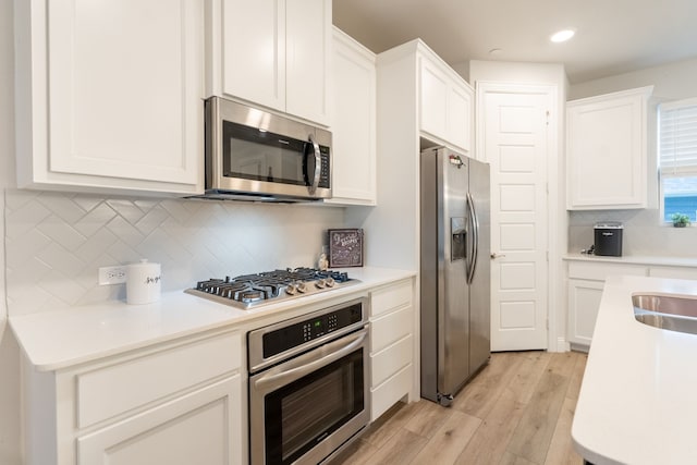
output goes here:
[{"label": "white lower cabinet left of the oven, drawer and door included", "polygon": [[27,465],[237,465],[240,333],[148,346],[58,371],[28,364]]}]

